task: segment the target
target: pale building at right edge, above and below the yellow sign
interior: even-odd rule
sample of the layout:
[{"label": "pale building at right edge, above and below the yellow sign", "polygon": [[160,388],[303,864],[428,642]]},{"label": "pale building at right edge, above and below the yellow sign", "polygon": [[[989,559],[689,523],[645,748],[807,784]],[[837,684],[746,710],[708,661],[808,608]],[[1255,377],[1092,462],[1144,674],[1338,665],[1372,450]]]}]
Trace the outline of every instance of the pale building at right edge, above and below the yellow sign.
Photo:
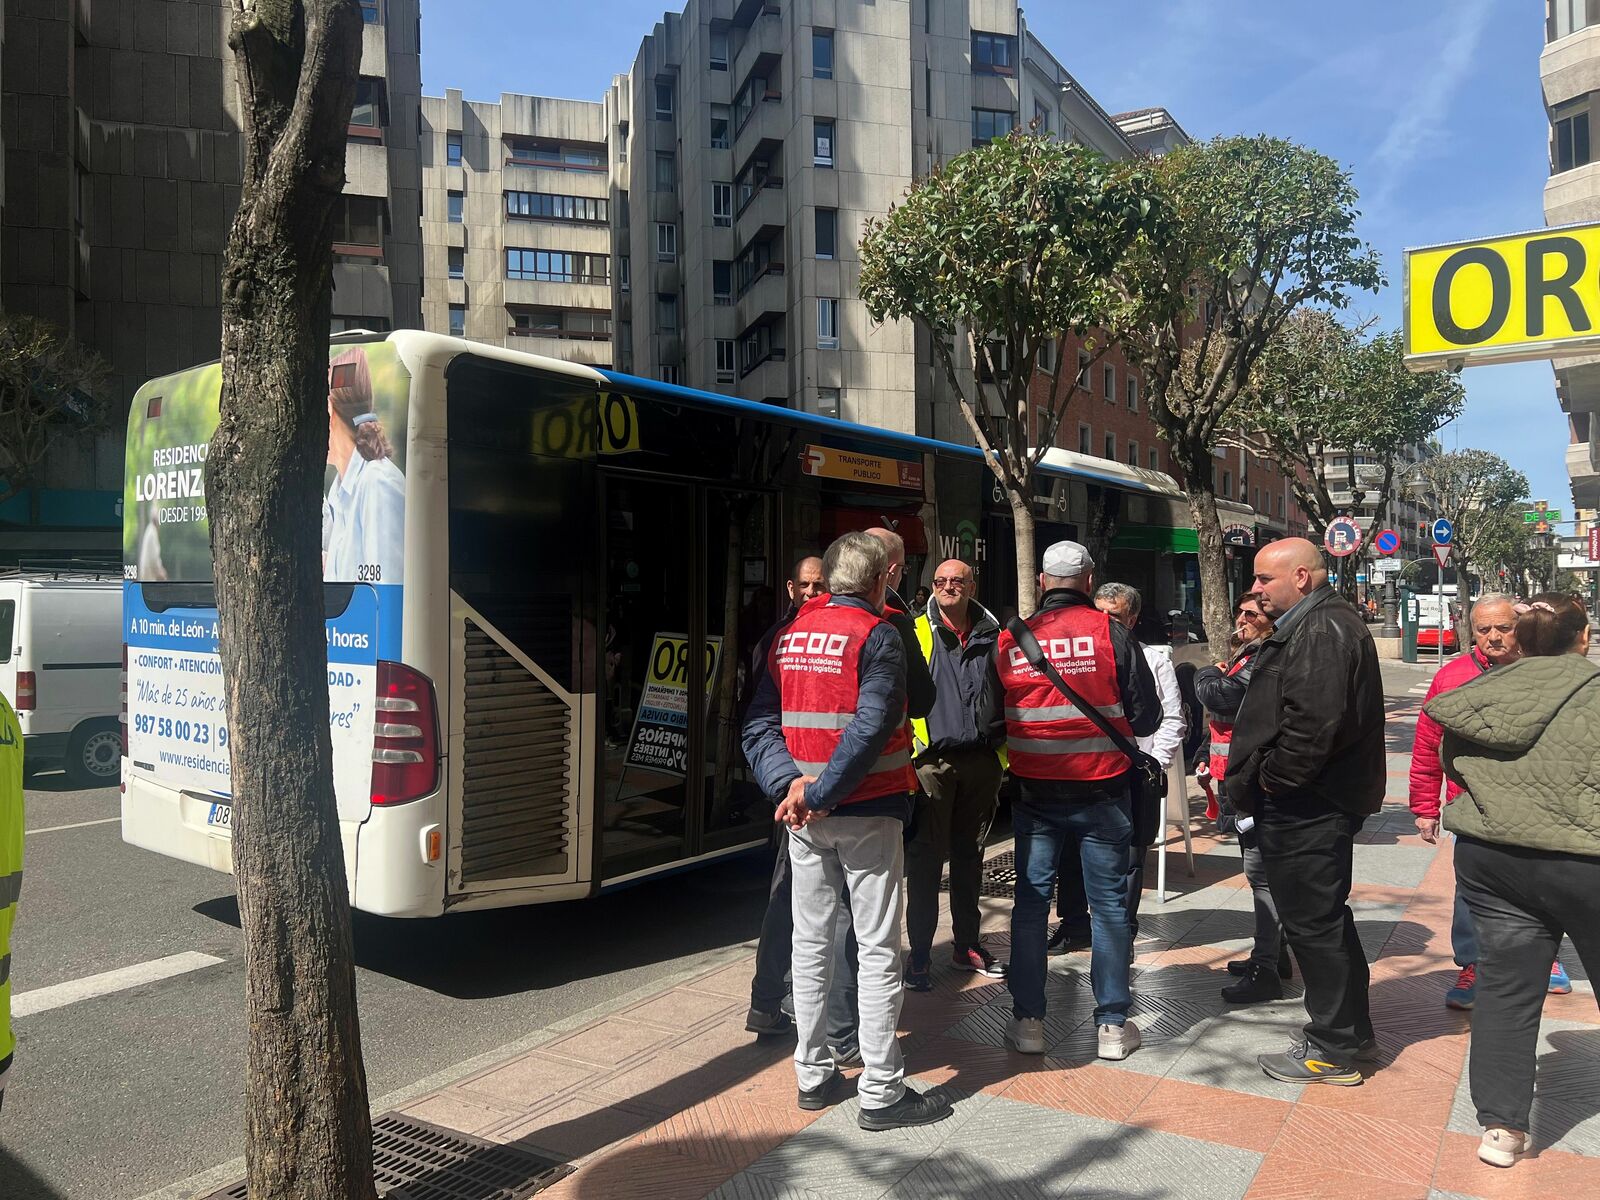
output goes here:
[{"label": "pale building at right edge, above and below the yellow sign", "polygon": [[[1566,226],[1600,219],[1600,3],[1546,0],[1539,83],[1550,118],[1550,178],[1544,221]],[[1600,506],[1600,355],[1555,363],[1555,395],[1566,413],[1566,474],[1573,504]]]}]

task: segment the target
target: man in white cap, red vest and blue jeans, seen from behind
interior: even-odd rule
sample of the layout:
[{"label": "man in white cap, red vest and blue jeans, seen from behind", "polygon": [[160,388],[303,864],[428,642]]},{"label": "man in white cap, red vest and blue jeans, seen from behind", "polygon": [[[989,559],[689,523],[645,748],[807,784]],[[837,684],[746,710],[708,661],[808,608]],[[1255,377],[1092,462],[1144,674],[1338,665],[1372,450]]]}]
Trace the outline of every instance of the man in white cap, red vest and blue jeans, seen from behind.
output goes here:
[{"label": "man in white cap, red vest and blue jeans, seen from behind", "polygon": [[[1045,550],[1038,590],[1038,611],[1026,624],[1056,674],[1126,742],[1155,733],[1162,723],[1155,678],[1133,635],[1090,598],[1094,592],[1090,552],[1078,542],[1051,546]],[[1098,1053],[1104,1059],[1125,1059],[1139,1048],[1139,1029],[1128,1021],[1133,763],[1117,741],[1029,662],[1010,630],[1002,630],[995,643],[984,710],[990,723],[1005,722],[1011,774],[1021,784],[1011,806],[1016,899],[1006,1042],[1024,1054],[1046,1050],[1045,928],[1061,846],[1075,840],[1093,910],[1090,982]]]}]

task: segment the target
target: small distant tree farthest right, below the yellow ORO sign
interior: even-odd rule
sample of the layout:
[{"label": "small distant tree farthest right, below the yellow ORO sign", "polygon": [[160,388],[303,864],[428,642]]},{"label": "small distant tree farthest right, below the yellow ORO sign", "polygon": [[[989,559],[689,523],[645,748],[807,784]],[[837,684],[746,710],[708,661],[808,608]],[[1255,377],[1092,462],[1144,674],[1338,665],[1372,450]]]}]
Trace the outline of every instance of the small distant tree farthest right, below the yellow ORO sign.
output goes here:
[{"label": "small distant tree farthest right, below the yellow ORO sign", "polygon": [[[1499,566],[1514,552],[1515,525],[1528,494],[1528,477],[1488,450],[1432,454],[1408,472],[1427,507],[1454,526],[1450,542],[1458,578]],[[1526,546],[1528,534],[1522,533]]]}]

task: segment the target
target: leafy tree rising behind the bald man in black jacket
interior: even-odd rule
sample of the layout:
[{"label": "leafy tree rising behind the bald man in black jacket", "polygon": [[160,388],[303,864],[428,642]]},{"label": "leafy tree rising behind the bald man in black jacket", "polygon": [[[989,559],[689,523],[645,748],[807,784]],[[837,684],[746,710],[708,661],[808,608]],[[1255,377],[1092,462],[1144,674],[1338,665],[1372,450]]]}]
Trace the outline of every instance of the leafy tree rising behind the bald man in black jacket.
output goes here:
[{"label": "leafy tree rising behind the bald man in black jacket", "polygon": [[1222,432],[1237,424],[1258,360],[1298,309],[1342,309],[1384,280],[1376,251],[1355,234],[1355,186],[1323,154],[1280,138],[1218,138],[1178,147],[1149,170],[1168,219],[1120,266],[1133,307],[1122,344],[1144,371],[1150,416],[1184,477],[1206,635],[1227,645],[1211,480]]}]

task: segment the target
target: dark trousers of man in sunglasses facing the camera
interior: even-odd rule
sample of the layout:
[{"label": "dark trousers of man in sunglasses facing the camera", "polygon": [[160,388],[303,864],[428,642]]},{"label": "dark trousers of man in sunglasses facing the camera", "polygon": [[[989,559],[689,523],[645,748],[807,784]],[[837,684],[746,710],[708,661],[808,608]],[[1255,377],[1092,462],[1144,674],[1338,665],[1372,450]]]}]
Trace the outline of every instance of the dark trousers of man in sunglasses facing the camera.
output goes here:
[{"label": "dark trousers of man in sunglasses facing the camera", "polygon": [[978,946],[984,840],[1000,797],[1000,760],[984,747],[939,750],[917,762],[917,834],[906,846],[906,939],[928,957],[939,925],[939,875],[950,861],[955,949]]}]

